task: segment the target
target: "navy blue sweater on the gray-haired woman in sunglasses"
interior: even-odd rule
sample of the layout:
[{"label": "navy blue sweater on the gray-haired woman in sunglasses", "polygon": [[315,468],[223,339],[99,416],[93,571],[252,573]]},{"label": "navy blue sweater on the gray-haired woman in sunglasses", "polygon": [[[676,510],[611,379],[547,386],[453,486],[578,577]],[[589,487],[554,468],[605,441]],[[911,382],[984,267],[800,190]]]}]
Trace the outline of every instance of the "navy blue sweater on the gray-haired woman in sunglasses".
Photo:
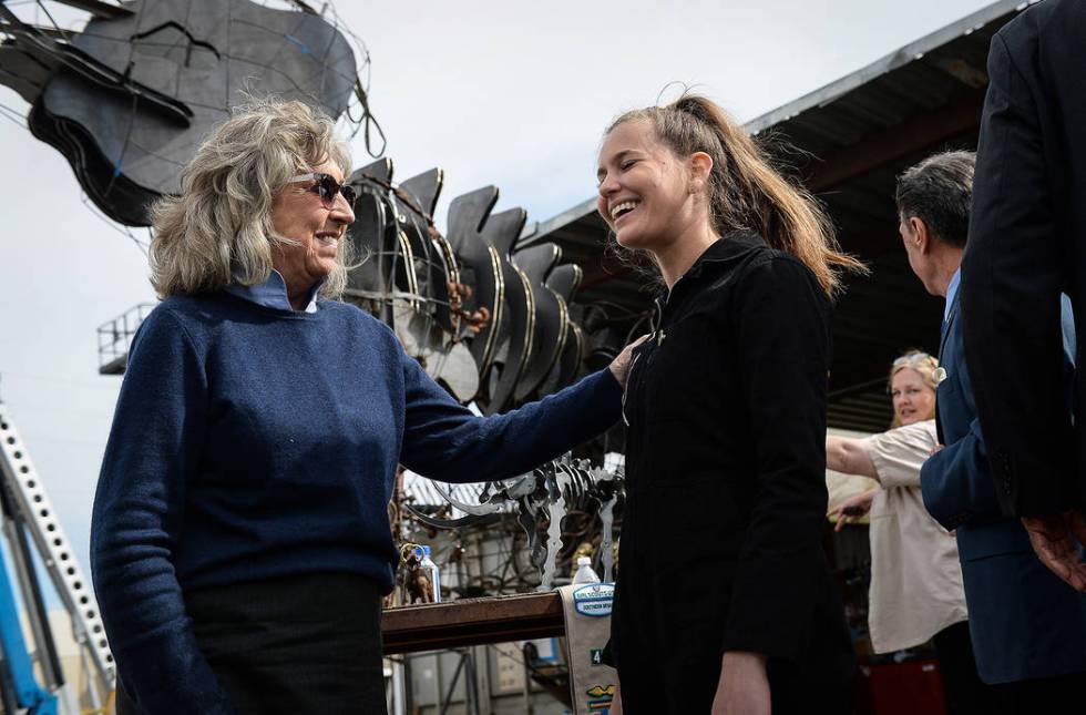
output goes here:
[{"label": "navy blue sweater on the gray-haired woman in sunglasses", "polygon": [[322,571],[391,590],[398,462],[445,481],[523,473],[613,425],[621,398],[603,370],[480,418],[354,306],[166,299],[132,345],[91,527],[125,688],[156,715],[230,712],[184,592]]}]

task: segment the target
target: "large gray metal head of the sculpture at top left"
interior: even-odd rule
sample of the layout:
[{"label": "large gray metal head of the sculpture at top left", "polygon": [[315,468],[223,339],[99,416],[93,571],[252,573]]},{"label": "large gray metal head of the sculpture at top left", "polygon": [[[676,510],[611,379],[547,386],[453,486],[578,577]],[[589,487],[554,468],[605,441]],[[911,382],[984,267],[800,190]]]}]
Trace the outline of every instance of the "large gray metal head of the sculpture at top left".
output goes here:
[{"label": "large gray metal head of the sculpture at top left", "polygon": [[[339,116],[361,92],[350,43],[318,14],[249,0],[133,0],[123,10],[66,42],[7,12],[18,54],[0,57],[0,78],[34,96],[31,132],[122,224],[147,225],[151,203],[180,193],[180,168],[246,94]],[[25,58],[35,60],[30,74]],[[53,71],[42,85],[43,67]]]}]

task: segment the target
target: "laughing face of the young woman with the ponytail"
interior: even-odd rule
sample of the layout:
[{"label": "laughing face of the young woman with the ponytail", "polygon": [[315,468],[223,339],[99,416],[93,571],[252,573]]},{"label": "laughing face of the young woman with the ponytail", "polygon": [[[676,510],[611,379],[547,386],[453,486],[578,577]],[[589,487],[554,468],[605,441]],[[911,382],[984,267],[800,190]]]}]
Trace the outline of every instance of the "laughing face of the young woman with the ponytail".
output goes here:
[{"label": "laughing face of the young woman with the ponytail", "polygon": [[708,219],[705,202],[691,191],[697,171],[688,164],[657,139],[648,120],[611,130],[600,150],[596,208],[619,245],[659,254]]}]

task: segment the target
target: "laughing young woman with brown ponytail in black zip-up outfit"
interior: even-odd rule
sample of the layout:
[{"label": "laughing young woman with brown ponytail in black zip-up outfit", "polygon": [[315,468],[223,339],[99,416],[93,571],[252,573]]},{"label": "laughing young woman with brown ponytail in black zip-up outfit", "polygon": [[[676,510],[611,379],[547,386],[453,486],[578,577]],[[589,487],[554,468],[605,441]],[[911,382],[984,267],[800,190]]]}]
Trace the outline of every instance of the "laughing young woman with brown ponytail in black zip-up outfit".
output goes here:
[{"label": "laughing young woman with brown ponytail in black zip-up outfit", "polygon": [[619,116],[597,176],[666,286],[624,402],[612,712],[849,712],[821,535],[830,299],[862,265],[705,98]]}]

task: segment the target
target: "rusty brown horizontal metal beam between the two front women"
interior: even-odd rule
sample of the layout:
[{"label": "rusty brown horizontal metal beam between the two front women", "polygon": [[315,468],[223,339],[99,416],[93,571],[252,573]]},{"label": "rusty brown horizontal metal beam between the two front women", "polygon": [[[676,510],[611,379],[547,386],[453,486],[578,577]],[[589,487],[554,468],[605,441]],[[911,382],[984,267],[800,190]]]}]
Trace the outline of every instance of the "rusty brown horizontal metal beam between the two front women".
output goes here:
[{"label": "rusty brown horizontal metal beam between the two front women", "polygon": [[565,635],[565,620],[547,591],[389,609],[381,632],[391,655]]}]

